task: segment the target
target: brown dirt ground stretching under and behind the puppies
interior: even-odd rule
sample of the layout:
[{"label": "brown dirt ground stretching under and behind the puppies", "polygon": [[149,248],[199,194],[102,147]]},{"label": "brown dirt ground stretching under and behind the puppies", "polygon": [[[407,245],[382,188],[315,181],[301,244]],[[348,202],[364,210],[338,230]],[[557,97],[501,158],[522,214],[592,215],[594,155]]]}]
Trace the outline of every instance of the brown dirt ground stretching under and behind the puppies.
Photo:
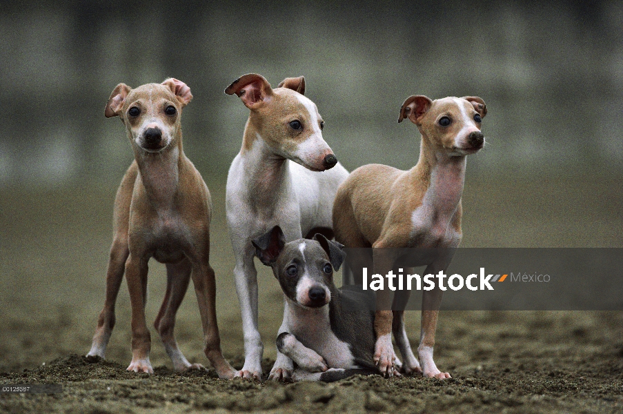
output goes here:
[{"label": "brown dirt ground stretching under and behind the puppies", "polygon": [[[468,177],[462,246],[623,247],[620,178],[582,180],[600,197],[578,188],[577,177]],[[243,340],[224,180],[208,180],[208,186],[216,210],[211,262],[217,273],[221,341],[226,357],[240,368]],[[0,191],[0,384],[63,385],[61,394],[0,394],[0,411],[623,412],[623,312],[445,312],[435,359],[452,380],[359,376],[334,384],[284,385],[218,380],[212,369],[173,373],[153,330],[155,375],[126,372],[130,307],[123,284],[107,360],[88,360],[81,355],[90,347],[103,304],[114,194],[114,187],[95,184]],[[259,270],[259,324],[268,372],[282,305],[277,282],[267,268]],[[164,284],[164,266],[152,263],[148,321],[157,313]],[[192,289],[177,320],[186,357],[208,364]],[[417,344],[419,313],[408,313],[407,323]]]}]

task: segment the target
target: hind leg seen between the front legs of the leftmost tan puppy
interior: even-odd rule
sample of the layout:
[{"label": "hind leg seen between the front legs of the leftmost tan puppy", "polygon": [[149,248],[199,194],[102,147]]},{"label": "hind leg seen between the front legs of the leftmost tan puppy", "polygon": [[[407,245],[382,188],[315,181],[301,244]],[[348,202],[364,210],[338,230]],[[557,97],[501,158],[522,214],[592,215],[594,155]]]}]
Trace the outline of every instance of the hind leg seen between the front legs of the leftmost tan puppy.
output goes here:
[{"label": "hind leg seen between the front legs of the leftmost tan puppy", "polygon": [[166,265],[166,293],[154,322],[156,331],[160,334],[166,353],[169,355],[175,371],[203,368],[201,364],[190,364],[188,362],[188,359],[179,350],[174,334],[175,315],[181,301],[184,299],[184,295],[186,295],[186,290],[188,290],[191,270],[192,266],[190,266],[190,262],[186,258],[179,263]]}]

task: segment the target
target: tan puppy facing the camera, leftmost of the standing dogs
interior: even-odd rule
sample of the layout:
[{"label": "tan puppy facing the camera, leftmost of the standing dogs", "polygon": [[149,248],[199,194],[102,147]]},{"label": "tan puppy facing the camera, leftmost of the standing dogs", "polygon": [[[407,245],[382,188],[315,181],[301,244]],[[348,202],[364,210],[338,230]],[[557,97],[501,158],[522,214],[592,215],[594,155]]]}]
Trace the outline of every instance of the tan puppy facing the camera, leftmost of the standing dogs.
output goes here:
[{"label": "tan puppy facing the camera, leftmost of the standing dogs", "polygon": [[175,313],[184,299],[190,275],[204,328],[204,351],[219,377],[233,368],[221,353],[215,310],[215,276],[210,267],[212,202],[206,183],[181,146],[181,109],[192,99],[177,79],[132,89],[119,83],[112,91],[106,117],[121,118],[135,161],[121,181],[115,199],[114,239],[106,275],[106,302],[88,355],[104,357],[115,326],[115,301],[125,270],[132,304],[132,362],[128,371],[153,373],[150,334],[145,321],[148,261],[166,263],[167,287],[155,320],[176,371],[202,368],[190,364],[173,335]]}]

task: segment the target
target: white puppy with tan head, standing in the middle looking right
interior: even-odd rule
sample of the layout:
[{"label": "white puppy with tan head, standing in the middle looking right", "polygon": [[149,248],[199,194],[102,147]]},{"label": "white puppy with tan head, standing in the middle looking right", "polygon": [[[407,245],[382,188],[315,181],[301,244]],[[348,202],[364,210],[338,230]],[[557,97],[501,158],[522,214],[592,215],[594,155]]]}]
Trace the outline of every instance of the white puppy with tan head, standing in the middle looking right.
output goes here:
[{"label": "white puppy with tan head, standing in the middle looking right", "polygon": [[[250,109],[242,148],[227,177],[227,221],[236,257],[236,289],[242,313],[245,362],[238,375],[261,377],[264,346],[257,329],[257,271],[251,241],[280,226],[291,241],[324,233],[333,237],[331,212],[348,172],[322,137],[324,121],[304,96],[303,77],[275,89],[250,74],[225,90]],[[279,333],[284,331],[281,325]],[[293,362],[281,353],[270,378],[288,380]]]}]

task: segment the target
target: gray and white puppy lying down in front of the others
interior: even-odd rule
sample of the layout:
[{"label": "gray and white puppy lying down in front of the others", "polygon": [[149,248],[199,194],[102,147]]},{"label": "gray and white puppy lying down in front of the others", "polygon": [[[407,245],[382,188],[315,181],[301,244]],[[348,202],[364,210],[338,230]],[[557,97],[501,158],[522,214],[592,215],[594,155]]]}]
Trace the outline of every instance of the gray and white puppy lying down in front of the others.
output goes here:
[{"label": "gray and white puppy lying down in front of the others", "polygon": [[373,298],[333,284],[333,269],[339,270],[346,257],[344,246],[321,234],[286,244],[279,226],[253,240],[253,246],[261,262],[273,268],[286,297],[287,329],[277,337],[277,349],[297,364],[292,379],[333,382],[379,373],[373,360]]}]

